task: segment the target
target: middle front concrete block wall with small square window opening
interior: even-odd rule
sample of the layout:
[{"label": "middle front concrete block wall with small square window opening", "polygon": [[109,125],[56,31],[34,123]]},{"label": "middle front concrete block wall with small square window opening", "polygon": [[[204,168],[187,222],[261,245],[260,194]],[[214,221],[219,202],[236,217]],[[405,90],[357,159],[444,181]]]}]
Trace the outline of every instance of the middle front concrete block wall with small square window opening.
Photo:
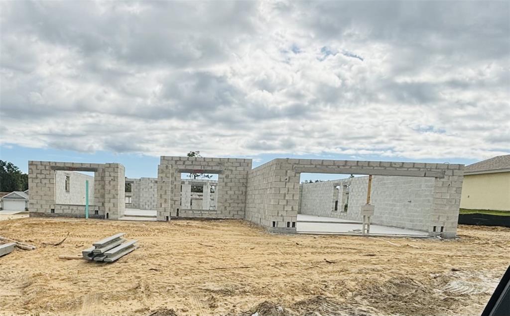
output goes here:
[{"label": "middle front concrete block wall with small square window opening", "polygon": [[[244,218],[249,170],[250,159],[161,156],[157,185],[158,220],[170,217]],[[181,173],[190,172],[218,174],[216,210],[181,207]]]}]

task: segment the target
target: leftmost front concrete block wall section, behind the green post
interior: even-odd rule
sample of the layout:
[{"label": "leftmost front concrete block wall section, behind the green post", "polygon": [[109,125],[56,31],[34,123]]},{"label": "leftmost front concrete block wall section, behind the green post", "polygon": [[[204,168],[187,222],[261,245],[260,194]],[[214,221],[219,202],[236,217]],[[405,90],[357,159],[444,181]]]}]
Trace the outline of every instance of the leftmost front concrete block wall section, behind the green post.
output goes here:
[{"label": "leftmost front concrete block wall section, behind the green post", "polygon": [[[119,164],[109,164],[111,166],[121,166],[117,169],[117,177],[122,172],[122,182],[124,179],[124,167]],[[123,213],[119,209],[113,209],[112,205],[108,205],[107,210],[107,194],[108,199],[122,199],[124,205],[124,187],[121,194],[116,182],[117,191],[112,190],[111,183],[107,178],[107,164],[88,164],[88,163],[66,163],[66,162],[43,162],[29,161],[29,210],[30,216],[68,216],[68,217],[85,217],[85,207],[77,204],[59,204],[56,202],[56,171],[89,171],[94,173],[94,199],[93,204],[89,205],[89,216],[97,218],[105,218],[108,210]],[[123,186],[123,183],[122,183]],[[119,206],[122,207],[122,206]]]}]

